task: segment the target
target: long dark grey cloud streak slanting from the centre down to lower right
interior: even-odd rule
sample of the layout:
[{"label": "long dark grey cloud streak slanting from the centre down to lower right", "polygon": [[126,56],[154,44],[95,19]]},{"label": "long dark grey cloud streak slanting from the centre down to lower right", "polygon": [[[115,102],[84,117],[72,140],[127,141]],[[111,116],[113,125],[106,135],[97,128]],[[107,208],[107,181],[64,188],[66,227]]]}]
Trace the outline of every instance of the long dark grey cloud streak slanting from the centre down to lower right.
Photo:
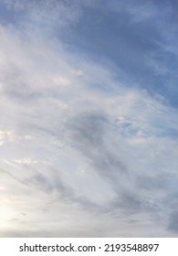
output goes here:
[{"label": "long dark grey cloud streak slanting from the centre down to lower right", "polygon": [[[104,112],[83,112],[73,117],[67,126],[67,133],[71,144],[77,149],[89,165],[99,174],[100,178],[106,178],[115,191],[117,199],[113,199],[100,211],[113,211],[116,215],[127,212],[128,217],[145,209],[145,202],[141,196],[132,191],[136,183],[131,181],[131,172],[127,165],[120,160],[120,144],[113,147],[114,133],[110,118]],[[111,133],[111,136],[110,136]],[[112,149],[112,151],[110,150]],[[137,176],[137,174],[135,174]],[[128,184],[131,183],[131,187]],[[140,191],[141,191],[140,187]],[[82,204],[91,203],[83,198]],[[97,208],[96,205],[93,205]]]}]

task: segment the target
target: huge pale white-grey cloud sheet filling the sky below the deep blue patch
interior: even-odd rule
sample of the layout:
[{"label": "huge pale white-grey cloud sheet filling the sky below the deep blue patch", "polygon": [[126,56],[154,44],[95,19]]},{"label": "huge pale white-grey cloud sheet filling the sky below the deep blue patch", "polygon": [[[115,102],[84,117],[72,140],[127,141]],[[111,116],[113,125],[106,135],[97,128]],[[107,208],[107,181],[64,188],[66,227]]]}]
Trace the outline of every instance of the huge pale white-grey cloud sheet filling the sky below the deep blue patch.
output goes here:
[{"label": "huge pale white-grey cloud sheet filling the sky below the deep blue patch", "polygon": [[7,2],[24,27],[0,28],[1,236],[174,236],[176,109],[60,37],[99,3]]}]

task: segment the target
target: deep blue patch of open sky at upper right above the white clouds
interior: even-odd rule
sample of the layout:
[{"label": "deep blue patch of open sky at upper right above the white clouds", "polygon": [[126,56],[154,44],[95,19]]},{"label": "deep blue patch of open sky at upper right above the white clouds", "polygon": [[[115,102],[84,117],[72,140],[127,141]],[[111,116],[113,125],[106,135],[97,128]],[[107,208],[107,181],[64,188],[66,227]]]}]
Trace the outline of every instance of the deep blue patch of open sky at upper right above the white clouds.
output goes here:
[{"label": "deep blue patch of open sky at upper right above the white clouds", "polygon": [[[129,87],[136,85],[151,93],[161,94],[168,103],[177,107],[177,87],[173,85],[173,80],[176,80],[178,60],[164,48],[167,43],[164,32],[171,26],[167,18],[170,14],[163,11],[160,15],[156,5],[152,4],[152,9],[155,7],[154,18],[147,16],[144,20],[142,17],[140,22],[133,22],[129,11],[131,6],[128,10],[122,9],[122,12],[109,9],[107,4],[88,8],[81,21],[72,27],[73,32],[66,35],[67,41],[71,41],[80,51],[88,51],[93,59],[110,59],[122,74],[118,79],[129,80]],[[167,5],[164,3],[163,9]],[[157,17],[154,22],[156,15],[165,24],[162,30],[157,24]],[[161,42],[163,48],[159,45]]]}]

